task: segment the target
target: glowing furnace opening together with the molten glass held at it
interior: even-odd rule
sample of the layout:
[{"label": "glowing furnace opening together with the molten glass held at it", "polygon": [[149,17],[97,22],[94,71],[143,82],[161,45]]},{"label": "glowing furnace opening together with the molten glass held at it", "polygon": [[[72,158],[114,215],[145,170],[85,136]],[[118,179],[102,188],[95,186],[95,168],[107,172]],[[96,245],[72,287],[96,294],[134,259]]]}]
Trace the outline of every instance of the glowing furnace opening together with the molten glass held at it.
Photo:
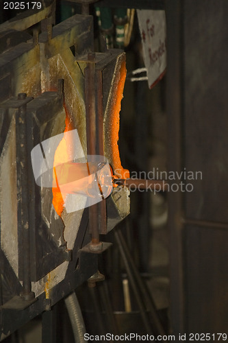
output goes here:
[{"label": "glowing furnace opening together with the molten glass held at it", "polygon": [[[71,130],[71,121],[66,115],[66,128],[55,150],[53,159],[53,206],[58,215],[77,211],[96,204],[112,193],[112,173],[105,156],[84,156],[77,130]],[[66,202],[66,196],[71,204]],[[82,200],[83,205],[79,204]],[[73,203],[77,202],[75,206]],[[75,208],[75,209],[73,209]]]}]

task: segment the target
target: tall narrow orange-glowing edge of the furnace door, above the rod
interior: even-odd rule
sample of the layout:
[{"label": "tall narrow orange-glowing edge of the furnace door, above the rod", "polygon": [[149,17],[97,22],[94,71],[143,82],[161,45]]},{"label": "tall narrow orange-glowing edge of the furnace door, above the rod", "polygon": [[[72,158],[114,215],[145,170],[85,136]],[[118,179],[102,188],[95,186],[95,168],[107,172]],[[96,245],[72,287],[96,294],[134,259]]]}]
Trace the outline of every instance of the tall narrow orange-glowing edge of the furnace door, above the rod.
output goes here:
[{"label": "tall narrow orange-glowing edge of the furnace door, above the rod", "polygon": [[111,149],[112,149],[112,168],[114,170],[114,175],[118,178],[129,178],[129,170],[123,169],[121,165],[121,157],[118,151],[118,131],[120,127],[120,112],[121,112],[121,100],[123,99],[123,88],[125,86],[126,78],[126,62],[123,60],[120,69],[120,79],[116,88],[116,93],[113,97],[112,106],[112,131],[110,133]]}]

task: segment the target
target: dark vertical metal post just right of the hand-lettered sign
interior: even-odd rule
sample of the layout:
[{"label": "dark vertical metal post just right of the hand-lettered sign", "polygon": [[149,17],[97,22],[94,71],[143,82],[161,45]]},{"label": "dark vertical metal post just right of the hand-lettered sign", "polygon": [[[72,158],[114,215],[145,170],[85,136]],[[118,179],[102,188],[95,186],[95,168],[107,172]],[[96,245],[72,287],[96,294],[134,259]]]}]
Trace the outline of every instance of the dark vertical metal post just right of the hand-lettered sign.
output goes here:
[{"label": "dark vertical metal post just right of the hand-lettered sign", "polygon": [[[182,1],[166,1],[167,78],[166,105],[168,117],[168,169],[181,171],[182,73]],[[175,181],[174,181],[175,182]],[[170,187],[172,180],[170,180]],[[183,296],[183,225],[181,192],[168,193],[168,228],[170,230],[170,313],[175,334],[185,333]]]}]

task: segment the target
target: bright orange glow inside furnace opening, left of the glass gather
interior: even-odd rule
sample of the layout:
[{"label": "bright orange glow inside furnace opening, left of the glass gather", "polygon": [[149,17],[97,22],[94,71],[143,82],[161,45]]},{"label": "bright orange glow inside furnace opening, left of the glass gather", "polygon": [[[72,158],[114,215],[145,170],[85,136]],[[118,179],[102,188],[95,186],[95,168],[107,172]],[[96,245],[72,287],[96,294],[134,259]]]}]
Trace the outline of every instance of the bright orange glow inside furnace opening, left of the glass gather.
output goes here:
[{"label": "bright orange glow inside furnace opening, left of the glass gather", "polygon": [[[64,132],[68,132],[70,130],[73,130],[73,126],[71,123],[71,118],[69,117],[67,110],[66,110],[66,106],[64,106],[65,111],[66,111],[66,120],[65,120],[65,130]],[[66,139],[62,139],[60,141],[60,144],[58,145],[58,148],[55,151],[55,158],[54,161],[55,163],[64,163],[65,159],[67,161],[67,156],[68,156],[68,152],[67,152],[67,142]],[[57,176],[56,176],[56,171],[55,171],[55,167],[53,168],[53,179],[56,180],[56,185],[57,187],[52,187],[52,193],[53,193],[53,206],[55,211],[58,213],[58,215],[62,215],[62,211],[64,209],[64,198],[62,196],[62,193],[60,191],[60,187],[58,185],[58,180],[57,180]]]}]

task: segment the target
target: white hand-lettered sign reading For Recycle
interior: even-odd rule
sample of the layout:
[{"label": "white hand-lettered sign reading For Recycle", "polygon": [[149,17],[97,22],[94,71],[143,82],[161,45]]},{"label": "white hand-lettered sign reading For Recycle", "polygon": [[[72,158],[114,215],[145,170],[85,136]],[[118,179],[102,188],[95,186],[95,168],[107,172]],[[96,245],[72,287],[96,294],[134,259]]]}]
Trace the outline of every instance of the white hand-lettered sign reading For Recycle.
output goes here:
[{"label": "white hand-lettered sign reading For Recycle", "polygon": [[163,10],[137,10],[149,88],[166,71],[166,16]]}]

